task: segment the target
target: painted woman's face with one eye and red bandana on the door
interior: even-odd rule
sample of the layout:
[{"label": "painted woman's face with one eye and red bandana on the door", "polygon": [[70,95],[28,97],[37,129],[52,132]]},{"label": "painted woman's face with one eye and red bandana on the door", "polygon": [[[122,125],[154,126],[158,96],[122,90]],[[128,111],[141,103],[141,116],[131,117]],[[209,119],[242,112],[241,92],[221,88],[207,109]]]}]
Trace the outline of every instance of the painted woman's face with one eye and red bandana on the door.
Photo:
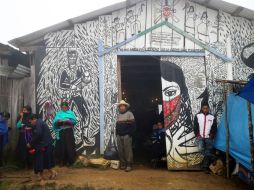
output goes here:
[{"label": "painted woman's face with one eye and red bandana on the door", "polygon": [[178,119],[181,110],[181,90],[176,82],[162,78],[163,110],[165,126],[170,127]]}]

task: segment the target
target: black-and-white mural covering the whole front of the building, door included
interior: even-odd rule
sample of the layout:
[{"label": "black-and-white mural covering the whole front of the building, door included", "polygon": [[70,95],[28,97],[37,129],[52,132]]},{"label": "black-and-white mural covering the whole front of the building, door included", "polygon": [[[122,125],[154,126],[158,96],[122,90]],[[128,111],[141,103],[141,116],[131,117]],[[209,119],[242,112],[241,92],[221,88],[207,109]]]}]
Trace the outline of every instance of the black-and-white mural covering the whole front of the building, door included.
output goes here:
[{"label": "black-and-white mural covering the whole front of the building, door included", "polygon": [[[39,66],[37,103],[40,113],[54,114],[61,100],[68,100],[79,118],[75,128],[77,150],[93,154],[99,146],[99,89],[98,89],[98,41],[104,48],[117,45],[140,34],[163,21],[168,21],[181,32],[160,26],[139,38],[103,56],[104,60],[104,109],[105,146],[115,126],[118,97],[117,52],[118,51],[204,51],[187,33],[202,44],[214,48],[222,55],[232,57],[231,63],[209,51],[204,57],[164,57],[181,73],[182,79],[170,84],[164,78],[165,88],[172,85],[176,95],[165,93],[167,110],[167,150],[169,168],[192,167],[202,158],[197,152],[192,132],[193,115],[199,111],[200,102],[207,98],[218,120],[223,110],[222,87],[216,79],[230,77],[246,80],[253,67],[245,66],[254,41],[253,24],[223,11],[213,10],[188,0],[144,0],[131,7],[100,15],[93,21],[75,24],[70,30],[62,30],[45,36],[46,56]],[[243,52],[243,53],[242,53]],[[243,56],[241,56],[241,53]],[[168,64],[166,64],[168,65]],[[162,70],[162,73],[164,71]],[[170,75],[170,71],[168,74]],[[184,85],[179,82],[185,81]],[[171,81],[172,82],[172,81]],[[177,86],[177,85],[178,86]],[[182,87],[181,87],[182,86]],[[183,89],[181,89],[183,88]],[[168,94],[168,96],[166,95]],[[167,97],[166,97],[167,96]],[[51,109],[45,112],[45,104]],[[46,106],[47,107],[47,106]],[[51,118],[47,118],[51,124]],[[187,154],[185,154],[187,153]]]}]

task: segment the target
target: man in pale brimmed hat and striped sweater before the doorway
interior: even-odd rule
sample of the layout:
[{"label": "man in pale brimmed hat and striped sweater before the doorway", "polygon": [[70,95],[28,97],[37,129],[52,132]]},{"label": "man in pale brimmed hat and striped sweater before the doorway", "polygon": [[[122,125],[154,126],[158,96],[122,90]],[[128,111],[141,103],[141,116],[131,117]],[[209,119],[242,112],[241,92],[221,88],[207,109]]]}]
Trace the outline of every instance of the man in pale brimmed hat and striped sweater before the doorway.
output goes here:
[{"label": "man in pale brimmed hat and striped sweater before the doorway", "polygon": [[130,105],[124,100],[118,103],[119,114],[116,123],[117,147],[120,159],[120,169],[129,172],[132,170],[133,151],[132,134],[135,130],[135,118],[128,110]]}]

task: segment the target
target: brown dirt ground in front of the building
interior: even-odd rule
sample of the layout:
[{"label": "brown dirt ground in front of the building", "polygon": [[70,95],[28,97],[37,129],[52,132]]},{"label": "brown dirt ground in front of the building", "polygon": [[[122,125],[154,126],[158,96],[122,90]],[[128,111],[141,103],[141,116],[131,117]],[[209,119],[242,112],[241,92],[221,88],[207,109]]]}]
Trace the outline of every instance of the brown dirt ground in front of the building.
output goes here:
[{"label": "brown dirt ground in front of the building", "polygon": [[[93,189],[111,190],[248,190],[251,189],[238,178],[225,179],[201,171],[167,171],[136,166],[132,172],[98,168],[56,168],[57,179],[47,181],[57,185],[89,185]],[[31,178],[29,178],[32,176]],[[24,185],[37,182],[31,170],[2,172],[1,181],[8,180],[8,188],[18,190]],[[21,188],[22,189],[22,188]],[[24,188],[23,188],[24,189]],[[40,188],[36,188],[40,189]],[[68,189],[68,188],[67,188]],[[87,188],[89,189],[89,188]]]}]

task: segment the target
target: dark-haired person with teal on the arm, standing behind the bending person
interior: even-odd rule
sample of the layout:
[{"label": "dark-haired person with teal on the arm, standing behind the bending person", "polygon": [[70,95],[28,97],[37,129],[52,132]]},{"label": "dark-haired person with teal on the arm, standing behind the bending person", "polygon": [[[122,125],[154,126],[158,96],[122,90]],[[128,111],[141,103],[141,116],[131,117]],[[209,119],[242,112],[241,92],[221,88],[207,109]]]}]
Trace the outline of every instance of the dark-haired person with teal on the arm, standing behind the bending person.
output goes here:
[{"label": "dark-haired person with teal on the arm, standing behind the bending person", "polygon": [[24,106],[17,118],[16,127],[19,129],[19,138],[16,147],[16,158],[25,167],[29,167],[32,163],[31,156],[26,148],[26,145],[32,140],[32,128],[29,123],[29,118],[32,114],[32,108]]}]

